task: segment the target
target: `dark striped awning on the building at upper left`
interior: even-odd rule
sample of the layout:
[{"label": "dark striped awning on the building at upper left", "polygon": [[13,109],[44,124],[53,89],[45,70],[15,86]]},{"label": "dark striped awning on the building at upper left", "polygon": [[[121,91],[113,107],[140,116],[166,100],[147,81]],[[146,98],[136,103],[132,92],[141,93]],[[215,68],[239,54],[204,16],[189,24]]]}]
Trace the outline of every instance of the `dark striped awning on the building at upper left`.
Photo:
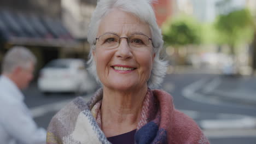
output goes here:
[{"label": "dark striped awning on the building at upper left", "polygon": [[58,20],[0,11],[0,40],[15,45],[73,47],[79,44]]}]

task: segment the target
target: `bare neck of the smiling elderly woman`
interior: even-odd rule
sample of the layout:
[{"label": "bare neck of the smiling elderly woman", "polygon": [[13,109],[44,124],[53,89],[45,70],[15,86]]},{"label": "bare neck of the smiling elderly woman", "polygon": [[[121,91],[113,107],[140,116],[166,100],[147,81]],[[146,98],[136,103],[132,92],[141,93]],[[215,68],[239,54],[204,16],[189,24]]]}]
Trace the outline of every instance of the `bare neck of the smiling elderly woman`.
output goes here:
[{"label": "bare neck of the smiling elderly woman", "polygon": [[132,92],[103,88],[101,118],[102,130],[107,137],[136,129],[147,90],[147,86]]}]

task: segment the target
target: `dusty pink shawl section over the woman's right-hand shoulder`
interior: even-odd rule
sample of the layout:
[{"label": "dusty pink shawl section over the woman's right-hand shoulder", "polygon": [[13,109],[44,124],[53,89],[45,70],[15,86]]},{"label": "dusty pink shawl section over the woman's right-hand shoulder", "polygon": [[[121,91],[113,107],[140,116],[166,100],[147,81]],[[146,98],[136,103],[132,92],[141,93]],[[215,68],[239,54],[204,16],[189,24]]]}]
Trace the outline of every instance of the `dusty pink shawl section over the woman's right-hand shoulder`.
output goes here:
[{"label": "dusty pink shawl section over the woman's right-hand shoulder", "polygon": [[[170,115],[172,123],[170,139],[173,143],[209,143],[199,125],[192,118],[174,108],[173,98],[169,93],[160,89],[154,89],[152,92],[162,107],[169,108],[170,113],[168,115]],[[165,112],[165,114],[167,113]]]}]

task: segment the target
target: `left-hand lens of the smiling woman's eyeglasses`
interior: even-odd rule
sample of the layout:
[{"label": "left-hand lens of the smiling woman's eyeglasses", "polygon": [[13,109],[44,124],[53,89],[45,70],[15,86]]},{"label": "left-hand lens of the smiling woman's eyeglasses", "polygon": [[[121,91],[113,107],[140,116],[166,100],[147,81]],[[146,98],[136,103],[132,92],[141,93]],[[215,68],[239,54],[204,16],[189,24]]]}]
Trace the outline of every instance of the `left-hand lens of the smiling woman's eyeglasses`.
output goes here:
[{"label": "left-hand lens of the smiling woman's eyeglasses", "polygon": [[119,37],[118,35],[114,34],[104,34],[98,39],[100,45],[106,48],[112,48],[118,46],[119,44]]}]

